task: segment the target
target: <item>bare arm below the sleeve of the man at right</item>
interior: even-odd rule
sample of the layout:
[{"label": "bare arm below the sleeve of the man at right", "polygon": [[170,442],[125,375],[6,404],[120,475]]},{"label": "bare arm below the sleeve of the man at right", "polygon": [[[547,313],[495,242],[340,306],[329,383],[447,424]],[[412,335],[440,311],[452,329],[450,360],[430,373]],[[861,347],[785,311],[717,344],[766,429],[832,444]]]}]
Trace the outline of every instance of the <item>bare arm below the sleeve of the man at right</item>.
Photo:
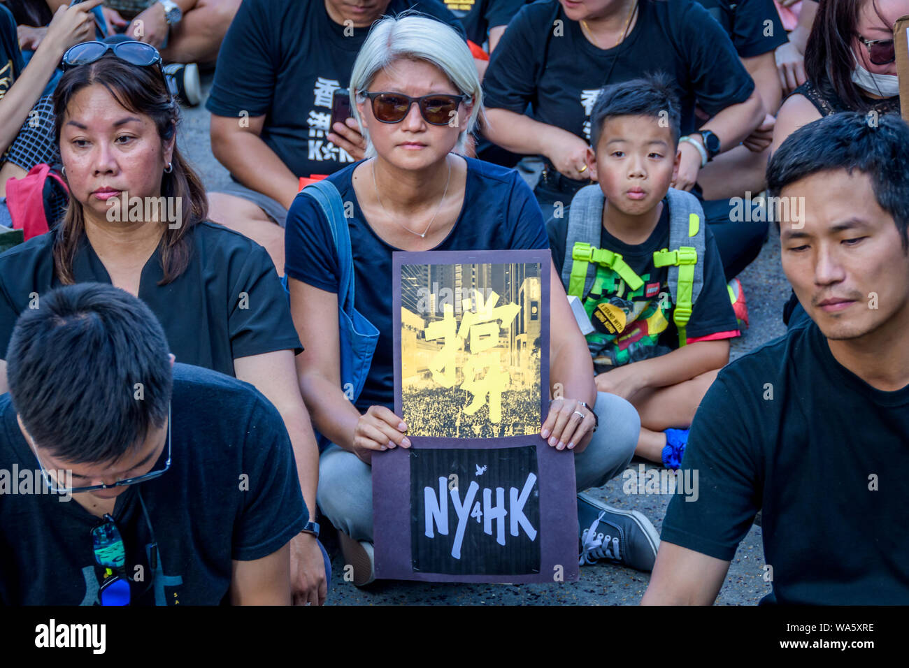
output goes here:
[{"label": "bare arm below the sleeve of the man at right", "polygon": [[642,605],[712,605],[729,562],[681,545],[660,543]]}]

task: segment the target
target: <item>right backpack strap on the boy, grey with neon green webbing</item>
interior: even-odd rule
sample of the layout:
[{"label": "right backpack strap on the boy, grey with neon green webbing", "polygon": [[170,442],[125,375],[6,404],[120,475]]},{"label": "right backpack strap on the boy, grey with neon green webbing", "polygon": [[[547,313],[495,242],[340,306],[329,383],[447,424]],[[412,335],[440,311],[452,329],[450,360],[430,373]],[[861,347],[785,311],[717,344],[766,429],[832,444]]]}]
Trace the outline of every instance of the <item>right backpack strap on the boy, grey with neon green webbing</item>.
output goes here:
[{"label": "right backpack strap on the boy, grey with neon green webbing", "polygon": [[669,248],[654,252],[654,266],[669,267],[669,290],[673,295],[673,322],[683,346],[685,326],[694,302],[704,287],[704,209],[691,194],[670,188]]}]

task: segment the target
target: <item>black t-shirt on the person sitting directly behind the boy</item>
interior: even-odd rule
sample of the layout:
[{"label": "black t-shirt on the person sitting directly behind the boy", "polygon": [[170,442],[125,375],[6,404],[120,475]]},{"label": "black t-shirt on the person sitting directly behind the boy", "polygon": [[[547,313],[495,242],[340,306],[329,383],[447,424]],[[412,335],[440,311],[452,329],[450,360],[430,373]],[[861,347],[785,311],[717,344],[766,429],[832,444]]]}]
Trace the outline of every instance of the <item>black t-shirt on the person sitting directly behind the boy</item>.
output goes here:
[{"label": "black t-shirt on the person sitting directly behind the boy", "polygon": [[723,28],[692,0],[640,0],[622,44],[599,49],[555,0],[526,5],[508,25],[483,79],[484,104],[531,115],[590,141],[590,114],[606,84],[662,71],[674,83],[682,134],[694,132],[694,100],[709,115],[744,102],[754,81]]}]

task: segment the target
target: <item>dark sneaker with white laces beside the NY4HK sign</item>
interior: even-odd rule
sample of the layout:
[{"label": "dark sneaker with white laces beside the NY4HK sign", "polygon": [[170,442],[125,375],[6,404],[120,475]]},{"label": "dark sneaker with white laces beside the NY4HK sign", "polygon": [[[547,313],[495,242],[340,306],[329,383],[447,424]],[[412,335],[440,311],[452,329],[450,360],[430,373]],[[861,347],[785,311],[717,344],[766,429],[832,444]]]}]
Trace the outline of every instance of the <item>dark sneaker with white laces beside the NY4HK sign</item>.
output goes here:
[{"label": "dark sneaker with white laces beside the NY4HK sign", "polygon": [[612,508],[587,494],[578,494],[577,514],[582,566],[606,561],[644,573],[654,570],[660,535],[643,513]]}]

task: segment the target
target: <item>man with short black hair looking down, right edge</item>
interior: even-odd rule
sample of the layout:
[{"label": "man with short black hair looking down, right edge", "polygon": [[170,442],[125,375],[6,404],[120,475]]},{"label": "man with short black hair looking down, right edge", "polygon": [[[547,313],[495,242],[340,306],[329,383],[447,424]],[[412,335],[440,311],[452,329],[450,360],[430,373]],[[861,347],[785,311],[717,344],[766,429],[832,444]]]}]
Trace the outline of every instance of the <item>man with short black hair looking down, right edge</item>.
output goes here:
[{"label": "man with short black hair looking down, right edge", "polygon": [[900,118],[844,113],[771,159],[783,269],[811,322],[704,397],[682,461],[700,495],[669,503],[643,603],[713,603],[758,510],[762,603],[909,600],[907,146]]}]

